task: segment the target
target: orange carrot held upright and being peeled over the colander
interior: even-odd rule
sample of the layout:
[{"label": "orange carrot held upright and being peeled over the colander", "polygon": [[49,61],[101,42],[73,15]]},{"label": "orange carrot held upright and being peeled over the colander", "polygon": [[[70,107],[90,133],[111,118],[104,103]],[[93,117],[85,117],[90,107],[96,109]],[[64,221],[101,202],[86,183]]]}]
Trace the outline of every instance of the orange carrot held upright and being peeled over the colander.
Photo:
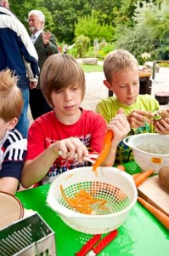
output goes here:
[{"label": "orange carrot held upright and being peeled over the colander", "polygon": [[97,171],[97,168],[103,163],[104,159],[106,158],[107,154],[109,153],[111,141],[113,139],[113,131],[107,131],[104,137],[104,148],[99,154],[99,157],[95,161],[93,165],[93,171]]}]

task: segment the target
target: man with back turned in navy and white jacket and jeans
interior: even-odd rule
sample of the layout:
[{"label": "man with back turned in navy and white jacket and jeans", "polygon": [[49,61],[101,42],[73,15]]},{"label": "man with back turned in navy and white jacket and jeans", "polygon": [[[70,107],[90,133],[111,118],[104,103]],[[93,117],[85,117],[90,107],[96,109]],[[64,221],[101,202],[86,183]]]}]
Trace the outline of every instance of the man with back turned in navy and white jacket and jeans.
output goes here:
[{"label": "man with back turned in navy and white jacket and jeans", "polygon": [[25,26],[9,10],[8,0],[0,0],[0,51],[0,71],[8,67],[19,78],[24,108],[16,128],[27,137],[29,87],[37,86],[38,56]]}]

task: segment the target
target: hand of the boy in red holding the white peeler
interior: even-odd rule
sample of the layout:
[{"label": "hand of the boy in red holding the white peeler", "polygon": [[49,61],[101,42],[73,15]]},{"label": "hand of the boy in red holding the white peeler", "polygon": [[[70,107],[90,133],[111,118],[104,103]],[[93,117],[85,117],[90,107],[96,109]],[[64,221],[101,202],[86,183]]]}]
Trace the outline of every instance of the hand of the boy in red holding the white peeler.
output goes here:
[{"label": "hand of the boy in red holding the white peeler", "polygon": [[88,156],[88,150],[86,146],[76,137],[69,137],[58,141],[51,145],[55,154],[59,154],[61,151],[62,158],[71,160],[75,157],[79,162],[82,162],[84,156]]}]

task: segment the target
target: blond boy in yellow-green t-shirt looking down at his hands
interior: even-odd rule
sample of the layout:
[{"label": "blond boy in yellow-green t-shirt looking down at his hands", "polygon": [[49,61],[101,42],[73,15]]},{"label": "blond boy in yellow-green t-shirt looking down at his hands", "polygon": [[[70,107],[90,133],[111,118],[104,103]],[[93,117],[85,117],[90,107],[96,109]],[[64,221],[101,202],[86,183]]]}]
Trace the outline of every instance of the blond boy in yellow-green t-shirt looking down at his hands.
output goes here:
[{"label": "blond boy in yellow-green t-shirt looking down at his hands", "polygon": [[[101,100],[96,108],[109,123],[117,111],[122,108],[127,116],[131,131],[128,135],[159,132],[169,134],[169,119],[156,122],[153,117],[159,110],[155,97],[139,95],[138,61],[127,50],[117,49],[110,52],[104,59],[104,85],[114,91],[115,96]],[[124,143],[117,149],[115,164],[133,160],[132,150]]]}]

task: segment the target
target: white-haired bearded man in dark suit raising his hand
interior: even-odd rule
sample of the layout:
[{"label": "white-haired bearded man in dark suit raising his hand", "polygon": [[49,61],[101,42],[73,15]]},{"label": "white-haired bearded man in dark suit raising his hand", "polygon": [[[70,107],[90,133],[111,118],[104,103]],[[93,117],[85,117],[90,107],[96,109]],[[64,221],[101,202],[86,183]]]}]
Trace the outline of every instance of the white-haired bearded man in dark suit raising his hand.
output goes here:
[{"label": "white-haired bearded man in dark suit raising his hand", "polygon": [[[59,52],[56,38],[51,32],[44,32],[45,16],[40,10],[31,10],[28,14],[29,29],[31,31],[31,40],[37,49],[38,63],[40,70],[42,65],[47,60],[48,56]],[[52,110],[48,106],[42,90],[40,88],[40,79],[38,80],[37,88],[30,90],[30,107],[33,119],[37,119],[43,113],[48,113]]]}]

